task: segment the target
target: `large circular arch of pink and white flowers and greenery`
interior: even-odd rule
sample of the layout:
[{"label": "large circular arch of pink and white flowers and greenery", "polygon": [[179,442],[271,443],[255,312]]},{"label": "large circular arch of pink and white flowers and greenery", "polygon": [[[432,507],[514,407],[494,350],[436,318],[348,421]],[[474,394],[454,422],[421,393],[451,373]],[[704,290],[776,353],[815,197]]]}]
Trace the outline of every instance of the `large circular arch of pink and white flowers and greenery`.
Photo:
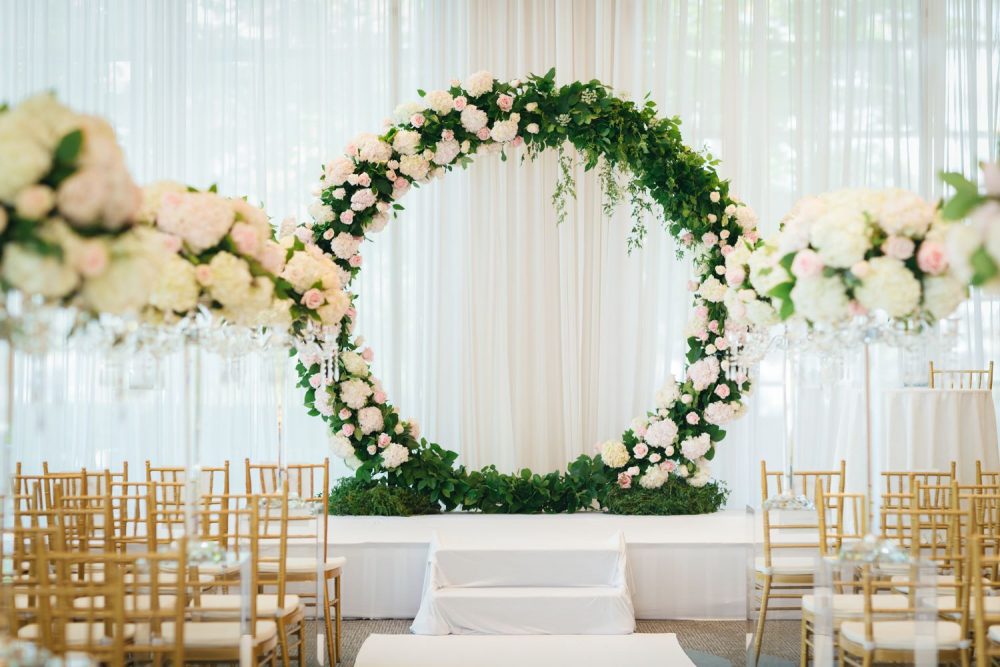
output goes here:
[{"label": "large circular arch of pink and white flowers and greenery", "polygon": [[[658,117],[651,101],[616,97],[599,81],[557,86],[550,70],[503,82],[478,72],[448,90],[419,93],[421,101],[401,105],[383,134],[356,137],[325,166],[310,207],[313,220],[295,230],[297,243],[332,255],[349,287],[361,270],[362,241],[403,210],[399,200],[411,188],[468,166],[478,154],[506,159],[520,149],[533,158],[555,149],[560,177],[553,201],[560,220],[580,159],[586,169],[599,169],[606,211],[621,201],[631,206],[630,249],[642,245],[646,214],[659,213],[693,259],[698,279],[691,283],[688,366],[683,377],[667,380],[653,409],[619,440],[603,443],[597,456],[581,456],[565,473],[470,471],[456,466],[457,453],[421,438],[416,422],[402,419],[389,402],[371,374],[373,352],[353,333],[352,307],[337,331],[335,355],[316,343],[297,350],[306,406],[328,423],[336,453],[357,468],[359,480],[408,487],[449,510],[717,509],[725,491],[710,481],[709,461],[725,435],[722,425],[742,414],[741,396],[750,388],[748,378],[730,368],[730,344],[745,331],[748,311],[770,308],[752,290],[737,289],[758,242],[753,211],[732,197],[711,155],[684,145],[678,119]],[[575,151],[564,151],[566,144]],[[353,304],[355,295],[350,298]],[[307,306],[308,300],[306,294]],[[773,311],[749,315],[759,321]]]}]

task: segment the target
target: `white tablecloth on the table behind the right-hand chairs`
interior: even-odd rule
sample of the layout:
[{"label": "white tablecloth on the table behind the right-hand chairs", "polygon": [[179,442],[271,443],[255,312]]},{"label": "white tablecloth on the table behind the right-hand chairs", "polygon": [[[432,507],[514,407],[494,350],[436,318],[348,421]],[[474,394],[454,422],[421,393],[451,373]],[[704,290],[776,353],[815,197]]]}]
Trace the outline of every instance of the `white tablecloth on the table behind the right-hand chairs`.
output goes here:
[{"label": "white tablecloth on the table behind the right-hand chairs", "polygon": [[887,470],[947,470],[976,481],[976,461],[1000,468],[993,393],[974,389],[899,389],[886,392]]}]

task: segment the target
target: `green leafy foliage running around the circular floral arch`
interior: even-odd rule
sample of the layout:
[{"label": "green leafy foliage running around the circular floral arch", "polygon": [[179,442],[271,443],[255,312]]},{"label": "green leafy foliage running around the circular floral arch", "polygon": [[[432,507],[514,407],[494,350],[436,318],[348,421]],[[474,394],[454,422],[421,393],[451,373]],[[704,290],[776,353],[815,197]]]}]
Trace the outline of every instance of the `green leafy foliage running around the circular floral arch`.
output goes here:
[{"label": "green leafy foliage running around the circular floral arch", "polygon": [[[480,84],[483,74],[478,75]],[[455,165],[467,166],[480,152],[500,152],[506,159],[508,152],[521,144],[528,158],[547,149],[560,152],[561,175],[553,197],[560,220],[565,214],[566,198],[574,194],[573,158],[563,152],[563,146],[568,143],[576,149],[586,169],[599,168],[606,197],[605,210],[610,212],[621,201],[631,206],[635,222],[629,236],[630,249],[642,245],[647,232],[646,215],[662,213],[659,217],[664,228],[684,241],[681,247],[696,248],[693,254],[695,270],[701,278],[699,282],[713,279],[713,272],[718,273],[717,267],[725,264],[722,250],[726,242],[700,244],[695,241],[692,244],[691,239],[721,235],[722,239],[730,239],[729,245],[745,242],[741,237],[743,227],[733,214],[734,207],[742,205],[730,197],[728,181],[721,180],[716,173],[717,161],[711,155],[687,147],[681,138],[680,121],[658,117],[652,101],[636,103],[616,97],[609,87],[596,80],[557,86],[554,70],[523,81],[493,80],[486,91],[481,90],[482,87],[468,83],[463,87],[456,83],[448,91],[435,91],[427,96],[426,104],[414,105],[408,118],[404,113],[404,117],[397,118],[397,123],[384,134],[377,138],[374,135],[359,137],[367,148],[359,149],[352,144],[347,153],[350,164],[340,158],[340,167],[353,169],[353,180],[360,180],[360,183],[345,182],[343,174],[333,176],[331,182],[331,169],[327,166],[318,203],[321,214],[313,213],[316,219],[310,227],[314,242],[337,256],[338,265],[350,279],[353,280],[360,270],[360,256],[358,261],[342,256],[344,253],[338,253],[335,239],[345,234],[355,239],[367,237],[370,232],[381,229],[385,223],[383,216],[395,216],[402,210],[396,201],[399,199],[397,188],[405,192],[411,185],[419,187],[432,175],[443,175]],[[507,133],[502,140],[497,140],[500,136],[497,132],[484,138],[482,132],[468,129],[463,123],[464,114],[455,110],[439,111],[445,92],[456,100],[456,104],[461,97],[463,106],[475,106],[485,112],[490,126],[497,127],[498,123],[513,120],[517,127],[516,137]],[[421,96],[424,96],[422,91]],[[433,99],[437,104],[431,102],[431,96],[436,96]],[[507,98],[512,98],[513,103]],[[404,132],[410,134],[400,137]],[[401,163],[406,160],[405,153],[398,152],[395,147],[387,160],[384,154],[366,158],[366,155],[385,153],[387,145],[399,147],[406,143],[400,141],[401,138],[412,144],[415,132],[419,134],[419,145],[415,147],[417,155],[429,156],[451,140],[460,143],[462,150],[444,164],[431,162],[436,174],[404,175]],[[414,147],[411,145],[409,149]],[[364,177],[359,179],[357,174]],[[405,183],[398,182],[403,178]],[[352,201],[354,193],[363,188],[375,193],[378,205],[359,211],[352,207]],[[367,194],[363,196],[368,197]],[[747,241],[752,247],[756,239]],[[355,298],[356,295],[352,295],[352,303]],[[702,298],[700,294],[694,298],[696,305],[704,308],[706,316],[716,323],[718,331],[724,332],[728,311],[723,300]],[[340,442],[349,442],[353,448],[352,457],[356,457],[356,477],[334,489],[332,513],[406,515],[455,509],[485,513],[559,513],[603,508],[623,514],[694,514],[716,511],[725,503],[728,492],[724,484],[705,483],[702,479],[696,486],[689,481],[696,475],[699,465],[705,465],[714,457],[716,445],[725,435],[718,422],[710,423],[704,418],[708,405],[718,400],[717,395],[722,395],[718,388],[724,385],[725,395],[733,405],[741,406],[740,397],[750,385],[746,378],[732,380],[725,372],[718,373],[716,362],[725,369],[728,352],[708,344],[706,339],[688,339],[687,361],[696,364],[714,359],[716,377],[707,386],[695,386],[690,378],[680,379],[675,386],[687,401],[658,406],[647,415],[669,416],[677,424],[678,452],[671,456],[678,469],[672,471],[669,480],[659,488],[640,488],[638,483],[622,488],[627,486],[627,480],[619,481],[624,466],[611,468],[601,456],[580,456],[566,471],[548,474],[530,470],[506,474],[494,466],[469,470],[457,464],[456,452],[420,438],[413,423],[400,418],[383,397],[381,401],[369,400],[366,407],[378,408],[382,417],[381,432],[392,434],[393,443],[405,447],[408,454],[402,464],[387,465],[387,457],[381,449],[384,443],[376,446],[379,433],[364,434],[356,428],[361,408],[356,407],[356,401],[351,407],[344,402],[341,383],[345,378],[372,382],[365,368],[358,368],[361,345],[352,333],[354,315],[354,311],[349,310],[342,323],[337,341],[341,355],[335,381],[330,384],[313,382],[314,375],[324,372],[322,364],[303,361],[301,356],[298,363],[300,386],[306,390],[305,403],[310,414],[324,419]],[[345,355],[353,359],[350,369],[345,364]],[[702,418],[692,419],[691,413],[702,415]],[[710,448],[697,461],[686,459],[679,452],[681,438],[701,435],[710,438]],[[641,456],[633,456],[641,440],[635,428],[625,430],[621,437],[621,443],[629,452],[625,466],[639,469],[636,480],[653,465]]]}]

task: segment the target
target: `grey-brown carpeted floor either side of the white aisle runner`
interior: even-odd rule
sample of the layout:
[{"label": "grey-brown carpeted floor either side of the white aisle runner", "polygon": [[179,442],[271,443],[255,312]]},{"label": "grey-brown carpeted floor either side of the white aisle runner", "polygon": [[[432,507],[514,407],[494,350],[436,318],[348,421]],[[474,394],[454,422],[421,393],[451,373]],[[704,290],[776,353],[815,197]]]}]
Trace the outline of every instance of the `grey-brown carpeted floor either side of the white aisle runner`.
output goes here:
[{"label": "grey-brown carpeted floor either side of the white aisle runner", "polygon": [[[313,623],[309,623],[313,626]],[[698,667],[727,667],[746,663],[747,624],[740,621],[639,621],[639,632],[671,632]],[[353,667],[354,659],[368,635],[404,634],[409,620],[383,619],[345,621],[343,660],[339,667]],[[306,633],[306,664],[315,659],[315,628]],[[791,667],[799,653],[799,622],[768,622],[760,667]]]}]

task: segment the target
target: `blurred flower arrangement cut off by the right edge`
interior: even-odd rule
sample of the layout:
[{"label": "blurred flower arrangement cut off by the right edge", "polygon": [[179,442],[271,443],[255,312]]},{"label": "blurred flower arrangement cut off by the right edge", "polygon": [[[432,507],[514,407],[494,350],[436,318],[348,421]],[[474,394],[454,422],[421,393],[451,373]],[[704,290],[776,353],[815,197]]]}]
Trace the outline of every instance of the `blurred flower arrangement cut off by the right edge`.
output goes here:
[{"label": "blurred flower arrangement cut off by the right edge", "polygon": [[941,215],[948,220],[968,218],[948,235],[948,258],[955,274],[989,292],[1000,291],[1000,163],[983,163],[984,190],[961,174],[943,174],[955,192]]}]

